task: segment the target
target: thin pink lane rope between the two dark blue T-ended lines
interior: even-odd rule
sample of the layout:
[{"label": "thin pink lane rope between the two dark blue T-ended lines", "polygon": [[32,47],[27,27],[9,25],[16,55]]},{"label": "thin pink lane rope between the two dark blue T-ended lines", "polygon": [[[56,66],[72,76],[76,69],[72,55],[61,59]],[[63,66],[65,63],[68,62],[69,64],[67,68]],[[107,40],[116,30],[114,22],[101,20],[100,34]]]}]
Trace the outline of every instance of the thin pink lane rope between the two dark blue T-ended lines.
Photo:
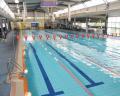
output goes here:
[{"label": "thin pink lane rope between the two dark blue T-ended lines", "polygon": [[85,86],[84,84],[60,61],[58,61],[58,64],[84,89],[84,91],[89,95],[89,96],[94,96]]}]

